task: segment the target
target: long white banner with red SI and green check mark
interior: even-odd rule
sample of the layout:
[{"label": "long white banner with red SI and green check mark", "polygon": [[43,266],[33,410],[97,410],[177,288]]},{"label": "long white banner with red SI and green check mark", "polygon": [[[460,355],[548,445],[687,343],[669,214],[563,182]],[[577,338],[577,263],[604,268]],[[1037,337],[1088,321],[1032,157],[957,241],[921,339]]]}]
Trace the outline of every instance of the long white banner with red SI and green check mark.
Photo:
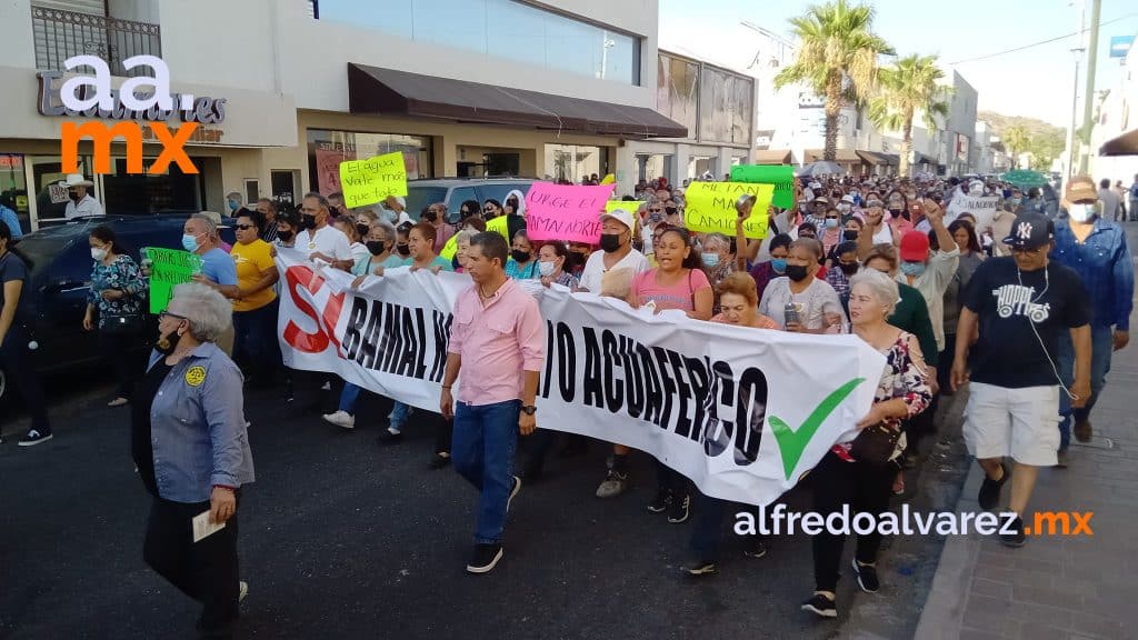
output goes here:
[{"label": "long white banner with red SI and green check mark", "polygon": [[[352,276],[316,271],[295,251],[279,249],[277,263],[290,367],[438,411],[451,310],[467,276],[388,269],[351,290]],[[851,438],[884,367],[855,336],[653,315],[558,288],[539,296],[538,427],[645,451],[726,500],[769,503]]]}]

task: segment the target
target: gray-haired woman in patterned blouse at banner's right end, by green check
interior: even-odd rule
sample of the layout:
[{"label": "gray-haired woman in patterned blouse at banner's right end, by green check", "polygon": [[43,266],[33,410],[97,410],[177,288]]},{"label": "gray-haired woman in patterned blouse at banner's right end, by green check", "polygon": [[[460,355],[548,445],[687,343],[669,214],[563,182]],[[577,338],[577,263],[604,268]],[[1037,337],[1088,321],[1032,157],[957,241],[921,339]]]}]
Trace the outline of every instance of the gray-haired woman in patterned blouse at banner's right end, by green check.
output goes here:
[{"label": "gray-haired woman in patterned blouse at banner's right end, by green check", "polygon": [[[890,486],[897,473],[893,462],[905,450],[904,420],[921,413],[932,401],[929,371],[917,338],[888,322],[898,294],[897,282],[873,269],[850,279],[850,321],[853,334],[885,356],[873,405],[853,425],[852,442],[835,444],[810,474],[814,511],[828,520],[846,506],[856,512],[880,518],[889,509]],[[866,593],[877,591],[876,528],[859,534],[853,556],[853,577]],[[802,609],[822,617],[836,617],[834,591],[846,536],[823,530],[814,536],[814,596]]]}]

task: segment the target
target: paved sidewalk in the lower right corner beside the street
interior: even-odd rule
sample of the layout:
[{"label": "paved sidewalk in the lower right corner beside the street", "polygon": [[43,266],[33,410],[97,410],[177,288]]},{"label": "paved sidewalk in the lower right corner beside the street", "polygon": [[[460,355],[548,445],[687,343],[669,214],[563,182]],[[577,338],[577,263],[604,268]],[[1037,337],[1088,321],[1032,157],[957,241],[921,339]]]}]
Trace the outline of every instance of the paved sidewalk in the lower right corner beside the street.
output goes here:
[{"label": "paved sidewalk in the lower right corner beside the street", "polygon": [[[1091,413],[1095,436],[1072,442],[1067,469],[1041,469],[1029,509],[1094,511],[1094,536],[950,538],[921,615],[921,639],[1138,638],[1138,345],[1115,352]],[[957,511],[979,512],[972,463]],[[1004,487],[1007,504],[1009,486]],[[1031,524],[1030,518],[1024,519]]]}]

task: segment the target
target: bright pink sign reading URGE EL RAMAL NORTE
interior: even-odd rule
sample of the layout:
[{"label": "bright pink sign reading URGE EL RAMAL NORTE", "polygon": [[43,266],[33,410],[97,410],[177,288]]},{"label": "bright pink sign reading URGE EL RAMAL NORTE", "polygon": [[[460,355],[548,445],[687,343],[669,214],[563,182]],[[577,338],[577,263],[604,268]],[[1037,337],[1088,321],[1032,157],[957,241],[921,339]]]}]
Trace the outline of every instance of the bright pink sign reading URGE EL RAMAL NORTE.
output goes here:
[{"label": "bright pink sign reading URGE EL RAMAL NORTE", "polygon": [[526,229],[529,239],[595,245],[601,239],[604,203],[616,187],[534,182],[526,194]]}]

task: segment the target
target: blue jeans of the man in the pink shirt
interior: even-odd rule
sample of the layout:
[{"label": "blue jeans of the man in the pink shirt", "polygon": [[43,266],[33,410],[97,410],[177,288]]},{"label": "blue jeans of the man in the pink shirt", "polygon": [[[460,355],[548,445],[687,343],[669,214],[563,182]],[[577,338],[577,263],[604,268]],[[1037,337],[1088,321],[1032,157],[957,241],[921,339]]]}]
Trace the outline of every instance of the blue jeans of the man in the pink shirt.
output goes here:
[{"label": "blue jeans of the man in the pink shirt", "polygon": [[518,448],[521,401],[473,407],[459,402],[454,410],[454,470],[481,492],[476,544],[502,541],[505,507],[513,489],[513,453]]}]

